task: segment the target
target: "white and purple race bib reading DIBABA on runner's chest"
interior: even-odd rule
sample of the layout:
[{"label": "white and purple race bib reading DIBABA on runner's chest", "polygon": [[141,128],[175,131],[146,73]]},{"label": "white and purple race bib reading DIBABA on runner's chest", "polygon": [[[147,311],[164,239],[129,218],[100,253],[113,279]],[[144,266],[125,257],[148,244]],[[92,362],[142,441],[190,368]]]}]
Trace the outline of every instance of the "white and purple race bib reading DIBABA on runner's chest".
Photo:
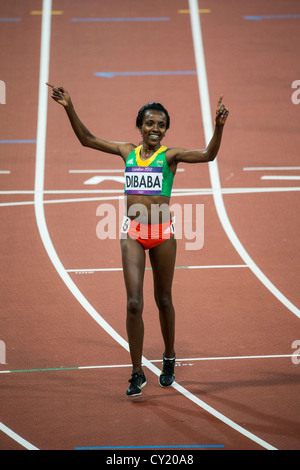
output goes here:
[{"label": "white and purple race bib reading DIBABA on runner's chest", "polygon": [[125,193],[159,195],[162,191],[162,168],[130,167],[125,171]]}]

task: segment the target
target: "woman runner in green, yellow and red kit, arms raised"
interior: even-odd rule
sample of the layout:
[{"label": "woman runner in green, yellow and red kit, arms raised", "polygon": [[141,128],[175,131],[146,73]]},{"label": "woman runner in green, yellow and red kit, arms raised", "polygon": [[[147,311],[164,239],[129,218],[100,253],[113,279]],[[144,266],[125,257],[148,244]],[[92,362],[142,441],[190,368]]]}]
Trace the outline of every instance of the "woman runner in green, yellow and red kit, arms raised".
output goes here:
[{"label": "woman runner in green, yellow and red kit, arms raised", "polygon": [[[121,250],[127,292],[126,328],[132,375],[128,396],[141,395],[146,378],[142,369],[144,339],[143,281],[145,250],[153,270],[154,297],[164,340],[162,387],[175,380],[175,310],[172,302],[172,281],[175,267],[176,239],[169,210],[172,184],[178,163],[213,161],[218,153],[228,109],[220,97],[216,110],[213,137],[204,150],[167,148],[161,142],[170,126],[167,110],[160,103],[143,106],[136,118],[142,145],[109,142],[95,137],[77,116],[71,98],[63,87],[52,88],[52,98],[62,105],[81,144],[101,152],[119,155],[125,163],[126,216],[123,220]],[[137,217],[137,214],[138,217]]]}]

